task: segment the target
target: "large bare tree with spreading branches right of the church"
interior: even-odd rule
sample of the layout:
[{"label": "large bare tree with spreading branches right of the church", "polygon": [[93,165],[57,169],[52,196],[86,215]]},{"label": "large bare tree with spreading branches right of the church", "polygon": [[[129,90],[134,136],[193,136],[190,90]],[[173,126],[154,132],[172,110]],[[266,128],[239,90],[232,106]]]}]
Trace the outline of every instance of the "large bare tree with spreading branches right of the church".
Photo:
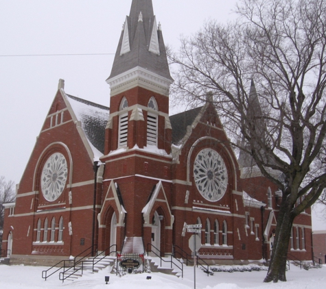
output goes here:
[{"label": "large bare tree with spreading branches right of the church", "polygon": [[326,187],[326,1],[242,0],[236,12],[234,23],[211,21],[170,53],[172,92],[194,105],[213,92],[233,145],[282,191],[264,281],[286,281],[294,218]]}]

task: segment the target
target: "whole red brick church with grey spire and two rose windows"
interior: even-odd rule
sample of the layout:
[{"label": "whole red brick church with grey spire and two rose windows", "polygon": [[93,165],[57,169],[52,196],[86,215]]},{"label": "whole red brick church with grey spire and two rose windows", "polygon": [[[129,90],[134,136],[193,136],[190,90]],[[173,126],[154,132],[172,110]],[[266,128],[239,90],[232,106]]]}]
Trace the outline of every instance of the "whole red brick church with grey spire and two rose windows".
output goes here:
[{"label": "whole red brick church with grey spire and two rose windows", "polygon": [[[110,108],[69,95],[60,79],[16,203],[5,204],[10,263],[55,263],[92,246],[190,254],[185,223],[202,224],[199,255],[210,262],[268,260],[281,194],[235,156],[210,96],[169,115],[173,79],[151,0],[132,0],[106,82]],[[291,254],[311,260],[311,234],[307,210]]]}]

